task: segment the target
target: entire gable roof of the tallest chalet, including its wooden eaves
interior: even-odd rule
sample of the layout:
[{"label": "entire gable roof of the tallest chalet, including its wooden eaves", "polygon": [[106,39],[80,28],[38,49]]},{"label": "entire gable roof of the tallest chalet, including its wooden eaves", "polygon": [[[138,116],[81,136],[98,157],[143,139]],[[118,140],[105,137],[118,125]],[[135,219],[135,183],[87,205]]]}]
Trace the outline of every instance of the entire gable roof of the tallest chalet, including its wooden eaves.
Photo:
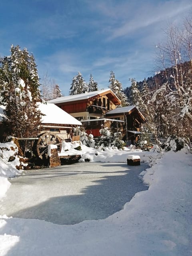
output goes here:
[{"label": "entire gable roof of the tallest chalet, including its wooden eaves", "polygon": [[120,99],[110,89],[64,96],[64,97],[56,98],[53,100],[49,100],[48,103],[60,104],[60,103],[67,103],[67,102],[76,102],[80,100],[92,100],[93,98],[98,98],[104,95],[107,95],[108,98],[110,98],[111,100],[114,100],[114,102],[116,102],[117,105],[121,104]]}]

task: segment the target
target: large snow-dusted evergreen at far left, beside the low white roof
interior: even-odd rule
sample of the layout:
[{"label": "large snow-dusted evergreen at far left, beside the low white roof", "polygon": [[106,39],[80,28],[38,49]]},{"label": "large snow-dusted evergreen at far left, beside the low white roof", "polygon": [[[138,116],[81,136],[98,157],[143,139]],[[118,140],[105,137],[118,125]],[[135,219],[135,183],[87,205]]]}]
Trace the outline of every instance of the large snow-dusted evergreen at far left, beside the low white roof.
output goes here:
[{"label": "large snow-dusted evergreen at far left, beside the low white roof", "polygon": [[36,137],[41,125],[39,77],[34,56],[20,46],[11,46],[11,55],[0,66],[0,103],[6,106],[3,124],[6,135]]}]

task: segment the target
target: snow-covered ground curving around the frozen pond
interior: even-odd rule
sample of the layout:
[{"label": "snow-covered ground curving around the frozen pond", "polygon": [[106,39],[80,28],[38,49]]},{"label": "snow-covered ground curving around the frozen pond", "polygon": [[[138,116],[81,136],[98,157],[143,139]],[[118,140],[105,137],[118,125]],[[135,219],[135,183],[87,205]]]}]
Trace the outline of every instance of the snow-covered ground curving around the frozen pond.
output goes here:
[{"label": "snow-covered ground curving around the frozen pond", "polygon": [[[152,166],[143,177],[149,189],[104,220],[58,225],[1,216],[0,256],[192,255],[192,155],[168,152],[160,158],[156,152],[88,150],[82,150],[82,160],[126,162],[126,155],[139,155]],[[14,172],[1,160],[1,196],[9,187],[9,169]]]}]

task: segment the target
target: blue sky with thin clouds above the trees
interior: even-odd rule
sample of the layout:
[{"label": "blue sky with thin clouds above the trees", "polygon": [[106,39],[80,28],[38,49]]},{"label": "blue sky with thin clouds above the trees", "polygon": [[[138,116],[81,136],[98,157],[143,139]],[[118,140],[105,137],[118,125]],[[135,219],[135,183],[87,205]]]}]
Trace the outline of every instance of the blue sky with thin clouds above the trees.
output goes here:
[{"label": "blue sky with thin clouds above the trees", "polygon": [[114,71],[123,88],[129,78],[153,76],[155,46],[163,29],[192,10],[191,0],[2,0],[0,56],[19,45],[34,54],[38,74],[47,73],[67,96],[74,75],[90,73],[99,89]]}]

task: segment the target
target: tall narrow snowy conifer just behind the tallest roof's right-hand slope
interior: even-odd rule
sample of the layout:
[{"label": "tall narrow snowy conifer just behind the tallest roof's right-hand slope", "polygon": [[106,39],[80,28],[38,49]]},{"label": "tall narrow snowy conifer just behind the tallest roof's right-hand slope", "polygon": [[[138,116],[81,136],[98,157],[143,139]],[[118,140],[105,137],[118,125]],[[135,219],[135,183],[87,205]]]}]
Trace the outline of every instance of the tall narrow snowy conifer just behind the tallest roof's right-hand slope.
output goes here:
[{"label": "tall narrow snowy conifer just behind the tallest roof's right-hand slope", "polygon": [[122,84],[115,78],[115,74],[113,71],[110,72],[109,82],[110,82],[109,88],[121,100],[121,105],[119,107],[128,106],[128,102],[127,102],[128,98],[123,92]]}]

